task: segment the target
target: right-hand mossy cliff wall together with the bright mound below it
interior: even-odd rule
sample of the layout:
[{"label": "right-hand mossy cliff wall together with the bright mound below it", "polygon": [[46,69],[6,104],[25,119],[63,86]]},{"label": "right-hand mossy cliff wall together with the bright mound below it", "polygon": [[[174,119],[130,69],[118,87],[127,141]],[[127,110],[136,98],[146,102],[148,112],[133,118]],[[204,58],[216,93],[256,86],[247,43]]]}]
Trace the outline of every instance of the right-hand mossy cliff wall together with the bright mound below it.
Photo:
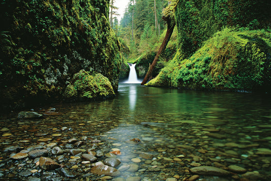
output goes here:
[{"label": "right-hand mossy cliff wall together with the bright mound below it", "polygon": [[267,1],[180,1],[176,56],[147,85],[270,90],[269,7]]}]

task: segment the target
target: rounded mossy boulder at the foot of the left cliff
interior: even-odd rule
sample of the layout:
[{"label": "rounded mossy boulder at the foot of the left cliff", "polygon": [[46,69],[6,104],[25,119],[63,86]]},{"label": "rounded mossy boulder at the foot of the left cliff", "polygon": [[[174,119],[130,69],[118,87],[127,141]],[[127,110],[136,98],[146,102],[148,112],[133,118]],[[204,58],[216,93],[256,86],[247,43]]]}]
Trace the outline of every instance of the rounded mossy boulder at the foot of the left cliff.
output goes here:
[{"label": "rounded mossy boulder at the foot of the left cliff", "polygon": [[101,99],[115,95],[113,87],[107,77],[101,73],[89,74],[80,70],[74,74],[63,96],[68,99]]}]

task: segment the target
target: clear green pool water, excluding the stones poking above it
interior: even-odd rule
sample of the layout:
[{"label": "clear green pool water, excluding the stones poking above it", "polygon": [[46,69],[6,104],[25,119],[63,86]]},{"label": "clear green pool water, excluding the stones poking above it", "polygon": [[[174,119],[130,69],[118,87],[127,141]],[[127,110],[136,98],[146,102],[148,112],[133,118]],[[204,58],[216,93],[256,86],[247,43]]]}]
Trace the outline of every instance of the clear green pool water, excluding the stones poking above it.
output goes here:
[{"label": "clear green pool water, excluding the stones poking above it", "polygon": [[[26,148],[40,143],[40,138],[50,138],[46,144],[55,142],[65,147],[70,138],[81,140],[81,137],[86,136],[88,140],[101,140],[97,149],[104,153],[118,148],[122,152],[121,156],[117,156],[122,161],[121,166],[133,163],[133,158],[140,159],[139,163],[133,163],[139,166],[138,170],[121,172],[119,177],[123,178],[138,176],[141,179],[164,180],[174,176],[184,180],[194,175],[190,169],[195,165],[215,166],[226,170],[229,165],[237,165],[250,172],[259,172],[259,179],[268,180],[271,175],[270,102],[268,94],[190,91],[119,84],[115,99],[52,105],[57,114],[47,115],[42,119],[17,120],[15,114],[3,115],[0,120],[1,136],[9,133],[11,136],[0,137],[0,146],[2,150],[14,145]],[[43,112],[38,108],[35,111]],[[62,127],[68,129],[63,131]],[[38,137],[35,136],[37,133],[47,135]],[[141,141],[135,144],[128,141],[133,138]],[[90,146],[92,145],[86,140],[79,148],[87,149]],[[142,152],[151,154],[152,157],[142,158]],[[33,164],[33,159],[14,161],[9,156],[10,153],[1,152],[2,178],[62,178],[57,177],[57,173],[53,171],[44,172]],[[49,156],[52,159],[56,157],[50,153]],[[63,164],[69,163],[69,156],[65,157],[67,158],[63,159]],[[105,157],[98,160],[104,161]],[[100,175],[82,171],[87,166],[81,164],[80,159],[76,164],[78,168],[72,168],[75,164],[70,163],[67,168],[80,173],[78,180],[100,179]],[[33,169],[39,171],[27,176],[20,175],[20,172]],[[242,174],[232,173],[237,178],[242,177]],[[233,178],[200,175],[200,179]]]}]

